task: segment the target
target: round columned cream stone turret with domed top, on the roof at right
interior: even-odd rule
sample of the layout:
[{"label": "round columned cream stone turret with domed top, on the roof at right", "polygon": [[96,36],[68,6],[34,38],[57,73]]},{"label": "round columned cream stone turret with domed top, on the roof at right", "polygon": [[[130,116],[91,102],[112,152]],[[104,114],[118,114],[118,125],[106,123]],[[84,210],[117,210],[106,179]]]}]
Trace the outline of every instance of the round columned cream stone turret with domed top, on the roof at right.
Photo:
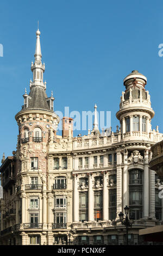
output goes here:
[{"label": "round columned cream stone turret with domed top, on the roof at right", "polygon": [[122,92],[120,110],[116,113],[121,124],[121,139],[148,141],[154,111],[149,92],[145,89],[147,78],[133,70],[124,78],[123,84],[126,90]]}]

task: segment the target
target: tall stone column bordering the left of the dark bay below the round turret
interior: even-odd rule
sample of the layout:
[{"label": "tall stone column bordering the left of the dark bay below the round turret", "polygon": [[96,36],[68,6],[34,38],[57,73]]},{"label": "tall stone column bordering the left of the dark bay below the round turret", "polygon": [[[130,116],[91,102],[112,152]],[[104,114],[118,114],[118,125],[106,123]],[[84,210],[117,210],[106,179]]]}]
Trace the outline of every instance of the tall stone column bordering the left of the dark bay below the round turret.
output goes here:
[{"label": "tall stone column bordering the left of the dark bay below the round turret", "polygon": [[127,152],[123,152],[123,208],[128,205],[128,165],[127,165]]}]

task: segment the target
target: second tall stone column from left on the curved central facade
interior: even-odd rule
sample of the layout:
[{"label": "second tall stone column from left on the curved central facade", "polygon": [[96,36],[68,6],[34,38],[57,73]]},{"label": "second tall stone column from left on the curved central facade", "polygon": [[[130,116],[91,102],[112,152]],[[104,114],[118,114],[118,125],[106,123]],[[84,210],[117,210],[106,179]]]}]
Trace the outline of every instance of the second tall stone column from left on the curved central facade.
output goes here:
[{"label": "second tall stone column from left on the curved central facade", "polygon": [[92,189],[92,175],[89,175],[89,191],[88,191],[88,214],[89,214],[89,221],[94,221],[94,194]]}]

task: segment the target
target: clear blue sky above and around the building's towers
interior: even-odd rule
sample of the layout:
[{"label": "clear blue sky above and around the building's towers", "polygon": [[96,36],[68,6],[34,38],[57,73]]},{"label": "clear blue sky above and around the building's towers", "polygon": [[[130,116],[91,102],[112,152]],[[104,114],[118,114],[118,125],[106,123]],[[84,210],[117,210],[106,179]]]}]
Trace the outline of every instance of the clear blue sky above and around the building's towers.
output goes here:
[{"label": "clear blue sky above and around the building's towers", "polygon": [[[147,77],[155,116],[152,126],[163,132],[162,1],[3,1],[0,8],[1,126],[0,159],[12,155],[17,143],[15,114],[29,93],[37,20],[46,64],[47,95],[64,111],[111,111],[116,130],[123,78],[132,70]],[[77,135],[78,131],[74,132]],[[87,132],[82,132],[86,134]]]}]

